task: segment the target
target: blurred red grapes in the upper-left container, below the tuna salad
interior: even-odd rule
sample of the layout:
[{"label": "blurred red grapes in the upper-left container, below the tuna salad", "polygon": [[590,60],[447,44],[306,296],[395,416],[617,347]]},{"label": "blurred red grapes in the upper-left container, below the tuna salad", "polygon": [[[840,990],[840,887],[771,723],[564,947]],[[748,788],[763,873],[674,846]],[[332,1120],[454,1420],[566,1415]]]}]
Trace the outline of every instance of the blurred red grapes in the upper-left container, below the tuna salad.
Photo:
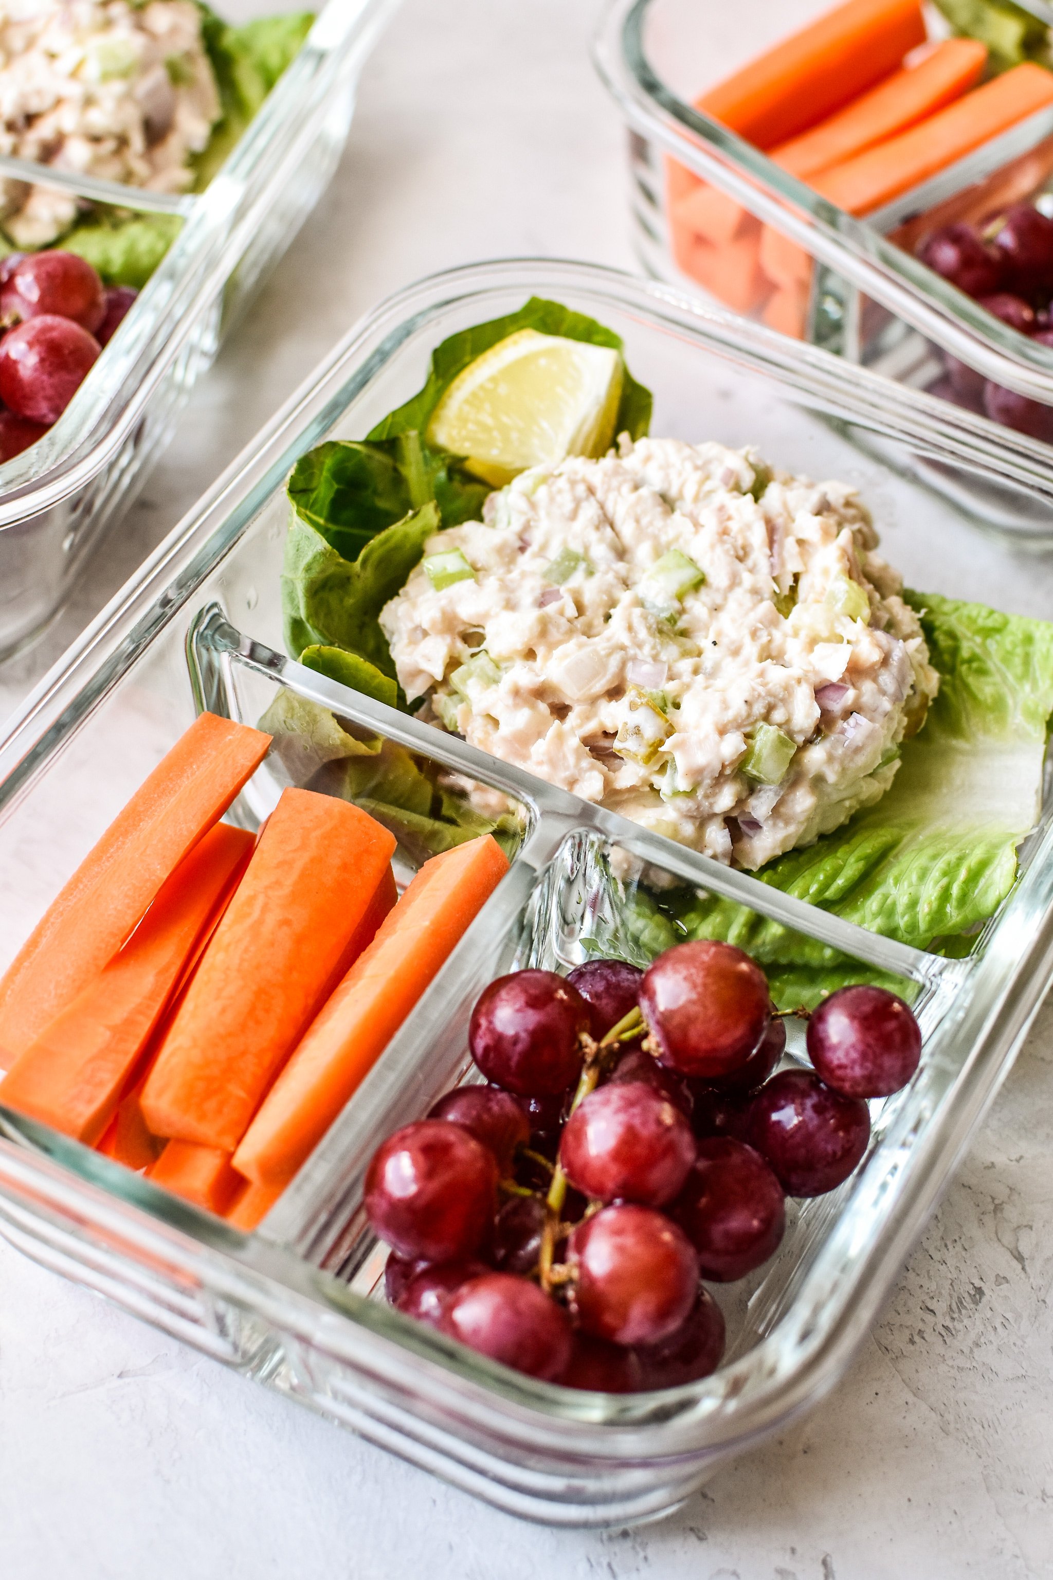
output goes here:
[{"label": "blurred red grapes in the upper-left container, below the tuna salad", "polygon": [[57,422],[136,300],[76,253],[0,261],[0,461]]}]

